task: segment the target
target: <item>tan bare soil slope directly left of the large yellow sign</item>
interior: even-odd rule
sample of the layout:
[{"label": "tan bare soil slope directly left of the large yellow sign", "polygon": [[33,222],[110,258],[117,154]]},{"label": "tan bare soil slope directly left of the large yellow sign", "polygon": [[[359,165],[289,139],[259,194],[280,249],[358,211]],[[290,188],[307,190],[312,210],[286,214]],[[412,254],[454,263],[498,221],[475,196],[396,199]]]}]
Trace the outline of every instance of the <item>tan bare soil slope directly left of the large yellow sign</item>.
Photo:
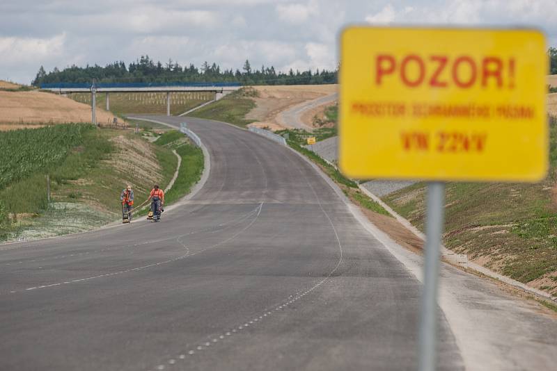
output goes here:
[{"label": "tan bare soil slope directly left of the large yellow sign", "polygon": [[255,119],[253,126],[278,130],[284,129],[276,115],[283,110],[296,106],[304,101],[323,97],[336,92],[338,85],[265,85],[254,86],[259,97],[253,98],[256,108],[246,115],[246,119]]}]

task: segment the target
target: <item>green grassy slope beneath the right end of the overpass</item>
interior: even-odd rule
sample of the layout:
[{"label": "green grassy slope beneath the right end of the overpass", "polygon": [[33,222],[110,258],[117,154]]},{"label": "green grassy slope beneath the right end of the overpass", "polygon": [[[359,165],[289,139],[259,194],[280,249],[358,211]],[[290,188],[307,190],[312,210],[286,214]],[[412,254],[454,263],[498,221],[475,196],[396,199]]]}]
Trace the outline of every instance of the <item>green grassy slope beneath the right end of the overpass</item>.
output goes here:
[{"label": "green grassy slope beneath the right end of the overpass", "polygon": [[228,122],[243,128],[255,121],[246,119],[245,116],[256,106],[253,99],[250,98],[257,96],[257,90],[242,88],[212,104],[207,104],[205,107],[194,110],[188,116]]}]

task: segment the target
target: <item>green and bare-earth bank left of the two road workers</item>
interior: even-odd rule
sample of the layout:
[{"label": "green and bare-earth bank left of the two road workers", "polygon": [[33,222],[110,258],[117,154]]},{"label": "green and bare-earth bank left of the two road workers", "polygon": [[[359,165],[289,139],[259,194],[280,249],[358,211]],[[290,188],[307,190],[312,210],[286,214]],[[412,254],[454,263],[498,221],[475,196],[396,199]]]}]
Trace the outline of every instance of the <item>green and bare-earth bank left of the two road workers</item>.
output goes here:
[{"label": "green and bare-earth bank left of the two road workers", "polygon": [[[0,146],[10,154],[10,161],[0,165],[0,240],[22,233],[26,238],[53,236],[111,222],[120,215],[119,196],[126,184],[141,203],[154,183],[168,184],[178,163],[171,149],[131,131],[89,124],[0,132]],[[185,174],[188,166],[182,163]],[[180,189],[185,187],[175,192]]]}]

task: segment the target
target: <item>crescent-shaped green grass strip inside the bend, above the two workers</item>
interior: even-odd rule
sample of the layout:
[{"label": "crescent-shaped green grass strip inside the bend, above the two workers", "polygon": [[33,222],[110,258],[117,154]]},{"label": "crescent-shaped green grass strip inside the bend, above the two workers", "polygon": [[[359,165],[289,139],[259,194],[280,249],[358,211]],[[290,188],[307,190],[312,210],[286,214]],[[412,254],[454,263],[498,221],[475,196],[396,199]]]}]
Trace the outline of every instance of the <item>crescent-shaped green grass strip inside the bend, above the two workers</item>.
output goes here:
[{"label": "crescent-shaped green grass strip inside the bend, above the two workers", "polygon": [[165,195],[165,204],[172,204],[184,195],[187,195],[191,187],[201,179],[203,173],[203,151],[193,145],[180,131],[167,131],[156,141],[155,145],[174,149],[180,157],[182,163],[178,170],[178,178],[174,185]]}]

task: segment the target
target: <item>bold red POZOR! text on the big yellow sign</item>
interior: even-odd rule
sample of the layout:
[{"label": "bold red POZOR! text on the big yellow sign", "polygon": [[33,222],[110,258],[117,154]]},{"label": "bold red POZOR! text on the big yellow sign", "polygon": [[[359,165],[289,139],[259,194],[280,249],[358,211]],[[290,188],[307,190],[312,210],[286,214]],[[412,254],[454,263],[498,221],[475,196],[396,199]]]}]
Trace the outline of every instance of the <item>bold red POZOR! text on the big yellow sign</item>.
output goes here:
[{"label": "bold red POZOR! text on the big yellow sign", "polygon": [[410,88],[428,85],[434,88],[515,88],[515,58],[409,54],[396,58],[390,54],[375,57],[375,83],[384,85],[389,79],[400,79]]}]

